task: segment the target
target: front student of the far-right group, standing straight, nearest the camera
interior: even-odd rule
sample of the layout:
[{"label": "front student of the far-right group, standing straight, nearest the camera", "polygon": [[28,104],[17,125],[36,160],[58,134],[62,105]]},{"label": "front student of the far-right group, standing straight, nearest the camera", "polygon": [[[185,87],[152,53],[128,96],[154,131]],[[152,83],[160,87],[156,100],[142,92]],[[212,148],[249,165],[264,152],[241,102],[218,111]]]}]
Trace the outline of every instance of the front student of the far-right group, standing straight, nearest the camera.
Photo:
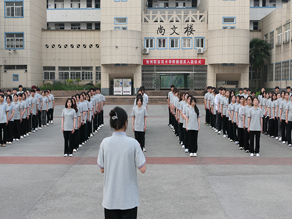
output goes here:
[{"label": "front student of the far-right group, standing straight, nearest the camera", "polygon": [[[256,157],[259,157],[259,139],[260,133],[263,131],[263,113],[258,107],[258,98],[253,100],[254,106],[248,110],[248,132],[250,133],[250,153],[251,157],[256,153]],[[256,136],[256,149],[254,147]]]}]

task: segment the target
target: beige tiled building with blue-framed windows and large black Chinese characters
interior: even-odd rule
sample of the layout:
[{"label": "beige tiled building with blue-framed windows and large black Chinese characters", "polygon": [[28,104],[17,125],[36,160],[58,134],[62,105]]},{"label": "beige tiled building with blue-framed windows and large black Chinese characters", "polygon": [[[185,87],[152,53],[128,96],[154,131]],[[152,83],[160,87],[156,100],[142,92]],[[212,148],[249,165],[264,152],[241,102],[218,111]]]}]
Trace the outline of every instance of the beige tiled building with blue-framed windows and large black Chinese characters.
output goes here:
[{"label": "beige tiled building with blue-framed windows and large black Chinese characters", "polygon": [[[1,88],[80,78],[101,83],[106,95],[113,93],[114,78],[131,79],[132,94],[140,86],[162,90],[170,83],[189,90],[253,87],[250,38],[267,37],[274,25],[282,25],[284,33],[290,19],[286,0],[0,0],[0,5]],[[268,33],[270,40],[277,39],[274,33]],[[277,70],[279,62],[282,71],[291,60],[274,58],[290,53],[288,45],[272,49]]]}]

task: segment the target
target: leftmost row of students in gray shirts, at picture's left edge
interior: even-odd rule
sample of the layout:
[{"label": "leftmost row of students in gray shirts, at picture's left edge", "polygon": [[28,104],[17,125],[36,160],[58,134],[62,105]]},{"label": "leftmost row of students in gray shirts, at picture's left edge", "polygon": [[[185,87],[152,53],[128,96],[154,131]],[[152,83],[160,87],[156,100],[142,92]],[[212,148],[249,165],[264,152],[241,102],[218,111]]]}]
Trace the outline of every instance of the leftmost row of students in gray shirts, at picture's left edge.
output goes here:
[{"label": "leftmost row of students in gray shirts, at picture's left edge", "polygon": [[[42,114],[39,118],[39,129],[48,125],[46,123],[46,115],[48,112],[49,91],[42,91],[42,97],[39,98],[40,103],[34,89],[26,92],[20,89],[18,94],[14,93],[12,95],[10,95],[11,91],[8,90],[7,93],[6,98],[4,98],[3,93],[0,94],[0,99],[3,99],[3,101],[0,101],[1,105],[3,105],[0,112],[2,119],[0,132],[2,133],[3,131],[3,137],[1,136],[0,141],[2,147],[5,147],[6,144],[12,144],[13,141],[24,139],[29,134],[36,132],[38,124],[37,113],[39,115]],[[39,111],[37,110],[38,105]],[[7,122],[4,123],[4,120],[7,120]]]}]

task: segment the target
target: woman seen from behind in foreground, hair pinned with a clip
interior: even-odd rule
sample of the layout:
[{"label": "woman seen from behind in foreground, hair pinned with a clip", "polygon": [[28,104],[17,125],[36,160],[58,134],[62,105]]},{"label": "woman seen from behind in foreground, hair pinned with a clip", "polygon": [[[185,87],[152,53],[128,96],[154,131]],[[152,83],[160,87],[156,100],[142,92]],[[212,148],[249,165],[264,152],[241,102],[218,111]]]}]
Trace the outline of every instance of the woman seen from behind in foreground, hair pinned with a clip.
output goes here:
[{"label": "woman seen from behind in foreground, hair pinned with a clip", "polygon": [[105,218],[137,218],[139,186],[137,168],[145,173],[146,159],[137,140],[126,136],[128,115],[115,107],[110,111],[111,137],[100,144],[97,164],[105,174],[102,205]]}]

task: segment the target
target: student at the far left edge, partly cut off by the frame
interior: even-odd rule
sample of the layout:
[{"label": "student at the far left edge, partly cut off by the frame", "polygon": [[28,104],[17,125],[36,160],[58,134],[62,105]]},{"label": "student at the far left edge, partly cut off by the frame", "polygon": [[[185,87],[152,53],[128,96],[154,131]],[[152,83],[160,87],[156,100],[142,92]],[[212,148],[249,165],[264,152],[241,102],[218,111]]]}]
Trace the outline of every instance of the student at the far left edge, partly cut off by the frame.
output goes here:
[{"label": "student at the far left edge, partly cut off by the frame", "polygon": [[[4,102],[4,94],[0,94],[0,146],[5,147],[7,142],[8,104]],[[3,138],[2,138],[3,130]]]}]

